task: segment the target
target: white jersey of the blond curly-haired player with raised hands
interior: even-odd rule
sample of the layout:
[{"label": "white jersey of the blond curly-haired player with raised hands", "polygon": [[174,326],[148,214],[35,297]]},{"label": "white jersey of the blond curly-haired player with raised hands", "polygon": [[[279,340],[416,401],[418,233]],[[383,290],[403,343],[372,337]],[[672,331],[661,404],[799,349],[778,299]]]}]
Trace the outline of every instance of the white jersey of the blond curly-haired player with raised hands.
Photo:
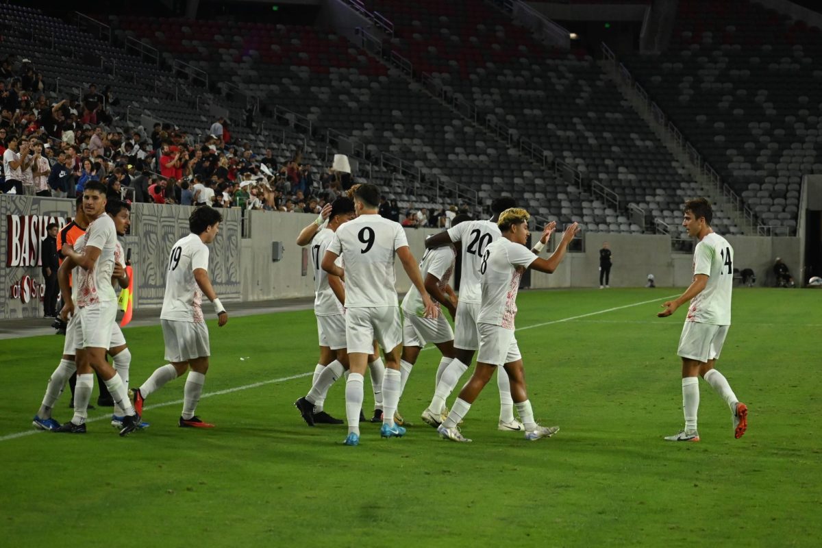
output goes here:
[{"label": "white jersey of the blond curly-haired player with raised hands", "polygon": [[514,329],[520,278],[536,258],[528,247],[504,237],[487,246],[479,266],[483,301],[478,323]]}]

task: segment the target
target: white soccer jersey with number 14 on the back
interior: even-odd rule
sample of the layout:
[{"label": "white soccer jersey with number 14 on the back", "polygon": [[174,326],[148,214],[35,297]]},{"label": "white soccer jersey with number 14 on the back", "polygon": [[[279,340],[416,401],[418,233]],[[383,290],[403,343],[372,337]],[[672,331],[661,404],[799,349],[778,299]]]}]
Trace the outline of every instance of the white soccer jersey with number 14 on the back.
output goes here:
[{"label": "white soccer jersey with number 14 on the back", "polygon": [[709,233],[694,249],[694,275],[707,274],[708,284],[690,300],[686,321],[731,325],[733,248],[717,233]]}]

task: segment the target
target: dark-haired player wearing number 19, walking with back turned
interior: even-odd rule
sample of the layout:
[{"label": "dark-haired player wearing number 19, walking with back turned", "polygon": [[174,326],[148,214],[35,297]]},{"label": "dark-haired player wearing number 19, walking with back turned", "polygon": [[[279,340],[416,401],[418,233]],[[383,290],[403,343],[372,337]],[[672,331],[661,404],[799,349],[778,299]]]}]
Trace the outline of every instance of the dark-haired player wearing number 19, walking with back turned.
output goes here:
[{"label": "dark-haired player wearing number 19, walking with back turned", "polygon": [[208,327],[201,309],[203,295],[214,305],[217,325],[223,327],[229,321],[229,314],[208,277],[208,244],[214,242],[222,221],[223,216],[210,206],[196,208],[188,218],[191,233],[171,247],[163,310],[159,315],[165,359],[170,363],[158,367],[139,389],[134,390],[134,407],[141,412],[145,398],[191,368],[183,388],[182,415],[178,421],[181,427],[214,428],[194,413],[205,385],[211,355]]}]

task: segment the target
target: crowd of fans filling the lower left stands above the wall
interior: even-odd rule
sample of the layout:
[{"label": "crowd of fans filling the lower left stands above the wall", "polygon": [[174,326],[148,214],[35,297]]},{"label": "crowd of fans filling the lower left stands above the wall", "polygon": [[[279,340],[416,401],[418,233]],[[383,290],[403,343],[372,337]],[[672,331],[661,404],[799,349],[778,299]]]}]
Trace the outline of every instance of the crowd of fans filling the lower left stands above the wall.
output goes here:
[{"label": "crowd of fans filling the lower left stands above the wall", "polygon": [[[118,99],[108,87],[58,103],[47,91],[29,59],[0,62],[0,191],[71,198],[100,181],[136,202],[319,213],[353,184],[349,173],[302,163],[299,151],[279,165],[271,149],[233,139],[223,117],[201,142],[170,123],[124,135],[109,130]],[[380,212],[407,227],[445,227],[457,208],[401,211],[383,200]]]}]

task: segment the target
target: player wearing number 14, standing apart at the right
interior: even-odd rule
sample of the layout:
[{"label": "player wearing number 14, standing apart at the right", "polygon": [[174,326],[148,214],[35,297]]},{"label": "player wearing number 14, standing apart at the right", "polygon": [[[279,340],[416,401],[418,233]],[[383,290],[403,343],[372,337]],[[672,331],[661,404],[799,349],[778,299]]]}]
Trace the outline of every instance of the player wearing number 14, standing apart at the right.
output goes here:
[{"label": "player wearing number 14, standing apart at the right", "polygon": [[682,358],[682,410],[685,428],[668,441],[699,441],[696,415],[700,408],[699,376],[725,400],[731,409],[733,435],[741,438],[748,427],[748,408],[733,393],[725,376],[713,368],[722,352],[731,326],[733,248],[711,228],[713,209],[708,200],[697,198],[685,204],[682,226],[699,239],[694,249],[694,280],[679,297],[663,304],[659,317],[672,315],[690,301],[677,354]]}]

